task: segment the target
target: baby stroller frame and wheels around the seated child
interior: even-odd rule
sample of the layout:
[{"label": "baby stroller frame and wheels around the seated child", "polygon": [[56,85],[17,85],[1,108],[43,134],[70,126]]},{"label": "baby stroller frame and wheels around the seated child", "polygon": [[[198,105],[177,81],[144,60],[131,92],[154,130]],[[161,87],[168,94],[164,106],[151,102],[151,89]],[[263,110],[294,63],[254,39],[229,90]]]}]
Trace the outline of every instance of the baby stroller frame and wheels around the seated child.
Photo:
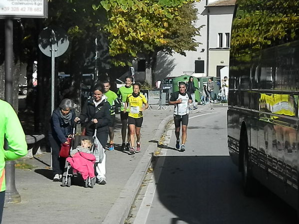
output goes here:
[{"label": "baby stroller frame and wheels around the seated child", "polygon": [[[80,145],[80,142],[82,139],[90,140],[92,143],[90,151],[95,158],[93,161],[92,169],[93,169],[94,174],[96,172],[99,172],[98,169],[95,169],[95,168],[98,167],[98,163],[102,162],[103,157],[104,157],[104,155],[103,155],[104,150],[101,146],[98,145],[99,141],[96,138],[96,130],[95,130],[94,136],[92,136],[92,137],[91,136],[74,135],[74,133],[75,133],[75,129],[73,130],[73,138],[71,139],[71,143],[70,143],[71,147],[69,150],[69,155],[72,150],[74,150],[78,145]],[[72,183],[72,179],[74,177],[77,177],[78,173],[83,178],[83,175],[79,171],[74,169],[73,166],[71,166],[70,159],[71,159],[71,157],[69,156],[65,162],[66,171],[63,173],[63,176],[62,176],[62,187],[65,187],[65,186],[70,187],[71,183]],[[88,163],[88,164],[89,164],[89,168],[90,168],[90,163]],[[86,174],[84,174],[84,177],[86,178]],[[84,182],[85,182],[85,185],[84,185],[85,188],[88,188],[88,187],[93,188],[95,185],[95,182],[96,182],[96,178],[95,177],[90,178],[90,176],[88,176],[88,178],[85,179]]]}]

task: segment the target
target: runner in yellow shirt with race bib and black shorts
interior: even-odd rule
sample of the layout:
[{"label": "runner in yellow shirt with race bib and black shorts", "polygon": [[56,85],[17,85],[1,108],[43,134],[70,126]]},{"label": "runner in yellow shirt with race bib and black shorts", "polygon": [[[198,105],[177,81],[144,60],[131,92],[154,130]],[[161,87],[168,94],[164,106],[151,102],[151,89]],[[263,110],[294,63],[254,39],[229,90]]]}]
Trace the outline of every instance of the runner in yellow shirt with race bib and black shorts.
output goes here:
[{"label": "runner in yellow shirt with race bib and black shorts", "polygon": [[[128,124],[130,130],[130,143],[131,147],[129,149],[131,154],[140,152],[140,129],[143,122],[143,113],[142,111],[148,108],[148,103],[143,94],[140,93],[141,84],[133,84],[133,93],[129,94],[125,103],[125,110],[129,108],[128,114]],[[143,107],[143,104],[145,105]],[[134,149],[134,137],[136,133],[136,149]]]}]

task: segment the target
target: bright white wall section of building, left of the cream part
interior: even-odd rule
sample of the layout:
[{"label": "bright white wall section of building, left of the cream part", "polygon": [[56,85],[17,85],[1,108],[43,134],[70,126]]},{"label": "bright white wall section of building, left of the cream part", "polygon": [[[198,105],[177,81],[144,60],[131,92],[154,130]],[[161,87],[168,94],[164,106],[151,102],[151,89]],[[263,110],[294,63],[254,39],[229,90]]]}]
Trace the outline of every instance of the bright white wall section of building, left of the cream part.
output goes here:
[{"label": "bright white wall section of building, left of the cream part", "polygon": [[[192,74],[195,71],[195,60],[204,60],[205,71],[207,70],[207,16],[201,14],[205,9],[206,1],[202,0],[195,4],[198,8],[196,26],[199,27],[203,24],[205,24],[205,26],[200,30],[201,36],[194,38],[202,44],[197,47],[197,51],[186,51],[186,57],[178,53],[174,53],[173,56],[170,56],[159,52],[155,70],[157,80],[161,80],[166,76],[180,76],[184,73]],[[200,52],[202,49],[204,49],[204,52]],[[200,59],[198,59],[199,57]],[[206,76],[206,74],[195,74],[195,76]]]}]

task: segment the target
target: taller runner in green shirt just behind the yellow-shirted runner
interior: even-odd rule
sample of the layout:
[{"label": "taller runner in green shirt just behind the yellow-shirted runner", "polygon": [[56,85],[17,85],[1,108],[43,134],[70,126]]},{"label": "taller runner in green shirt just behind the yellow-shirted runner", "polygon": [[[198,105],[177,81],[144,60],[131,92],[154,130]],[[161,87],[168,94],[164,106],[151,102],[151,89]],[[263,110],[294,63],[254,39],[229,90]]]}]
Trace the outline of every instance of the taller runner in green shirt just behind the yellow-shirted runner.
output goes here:
[{"label": "taller runner in green shirt just behind the yellow-shirted runner", "polygon": [[[129,116],[129,108],[127,110],[124,110],[125,102],[127,100],[127,96],[129,94],[133,93],[133,77],[127,76],[125,81],[125,86],[122,86],[118,89],[117,95],[120,99],[121,106],[120,106],[120,120],[121,120],[121,137],[122,137],[122,145],[121,145],[121,151],[123,150],[129,150],[130,148],[130,130],[128,128],[128,116]],[[127,136],[127,144],[126,144],[126,135]]]}]

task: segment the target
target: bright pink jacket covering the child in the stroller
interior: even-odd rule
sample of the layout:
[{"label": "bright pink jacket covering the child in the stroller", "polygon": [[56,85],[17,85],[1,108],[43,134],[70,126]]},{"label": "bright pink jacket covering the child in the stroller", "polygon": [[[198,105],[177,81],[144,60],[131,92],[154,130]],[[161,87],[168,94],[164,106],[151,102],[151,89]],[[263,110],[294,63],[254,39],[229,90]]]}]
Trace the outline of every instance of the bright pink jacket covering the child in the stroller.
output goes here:
[{"label": "bright pink jacket covering the child in the stroller", "polygon": [[66,159],[70,163],[71,167],[81,173],[83,180],[88,177],[93,178],[94,175],[94,162],[95,157],[89,153],[77,152],[73,157]]}]

